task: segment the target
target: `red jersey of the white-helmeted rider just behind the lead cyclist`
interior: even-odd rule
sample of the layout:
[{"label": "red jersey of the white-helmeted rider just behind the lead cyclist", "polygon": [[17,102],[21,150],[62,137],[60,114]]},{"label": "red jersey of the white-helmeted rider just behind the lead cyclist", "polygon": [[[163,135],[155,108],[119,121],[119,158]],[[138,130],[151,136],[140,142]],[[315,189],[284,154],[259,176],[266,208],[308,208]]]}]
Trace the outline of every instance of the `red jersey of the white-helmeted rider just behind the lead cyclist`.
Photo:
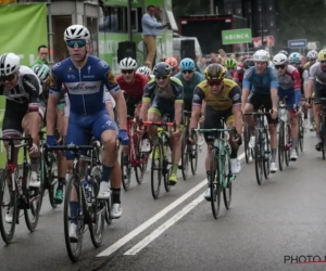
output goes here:
[{"label": "red jersey of the white-helmeted rider just behind the lead cyclist", "polygon": [[123,75],[116,77],[120,88],[133,99],[141,99],[143,95],[145,86],[149,82],[148,76],[143,74],[135,74],[134,81],[128,83],[125,81]]}]

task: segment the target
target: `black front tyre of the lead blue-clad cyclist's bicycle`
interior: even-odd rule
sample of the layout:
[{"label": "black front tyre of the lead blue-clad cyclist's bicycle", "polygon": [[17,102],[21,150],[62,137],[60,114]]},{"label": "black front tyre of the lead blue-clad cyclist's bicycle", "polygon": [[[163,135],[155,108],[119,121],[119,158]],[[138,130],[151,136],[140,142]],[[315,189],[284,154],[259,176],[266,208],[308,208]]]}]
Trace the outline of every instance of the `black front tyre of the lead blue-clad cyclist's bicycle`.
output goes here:
[{"label": "black front tyre of the lead blue-clad cyclist's bicycle", "polygon": [[[71,203],[71,192],[75,188],[75,195],[77,196],[78,201],[77,204],[80,208],[77,211],[77,237],[78,241],[76,243],[72,242],[70,238],[70,221],[71,221],[71,214],[70,214],[70,203]],[[68,254],[70,259],[73,262],[76,262],[79,259],[82,247],[83,247],[83,234],[84,234],[84,208],[83,208],[83,198],[80,193],[80,185],[79,185],[79,178],[77,175],[72,175],[65,189],[64,194],[64,206],[63,206],[63,225],[64,225],[64,240],[65,240],[65,247]],[[76,249],[72,247],[72,244],[76,244]]]}]

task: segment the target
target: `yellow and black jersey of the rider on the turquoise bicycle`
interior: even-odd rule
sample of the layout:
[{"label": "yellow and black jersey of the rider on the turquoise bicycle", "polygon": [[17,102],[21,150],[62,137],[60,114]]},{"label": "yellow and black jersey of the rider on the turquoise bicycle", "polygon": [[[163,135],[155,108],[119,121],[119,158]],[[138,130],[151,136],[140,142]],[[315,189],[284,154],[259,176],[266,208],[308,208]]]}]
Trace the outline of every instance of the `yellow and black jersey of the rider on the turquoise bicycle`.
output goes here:
[{"label": "yellow and black jersey of the rider on the turquoise bicycle", "polygon": [[241,89],[235,81],[224,79],[222,91],[214,95],[208,82],[203,81],[195,88],[192,105],[201,106],[202,101],[205,101],[206,107],[212,107],[214,111],[227,111],[233,106],[241,105]]}]

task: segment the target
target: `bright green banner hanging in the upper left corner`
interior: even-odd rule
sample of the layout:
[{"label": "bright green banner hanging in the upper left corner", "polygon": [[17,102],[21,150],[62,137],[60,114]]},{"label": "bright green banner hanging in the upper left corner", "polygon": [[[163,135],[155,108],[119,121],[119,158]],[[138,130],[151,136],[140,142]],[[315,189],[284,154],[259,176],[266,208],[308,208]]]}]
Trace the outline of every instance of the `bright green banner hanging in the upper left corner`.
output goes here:
[{"label": "bright green banner hanging in the upper left corner", "polygon": [[0,54],[13,52],[32,65],[37,48],[48,44],[46,3],[0,5]]}]

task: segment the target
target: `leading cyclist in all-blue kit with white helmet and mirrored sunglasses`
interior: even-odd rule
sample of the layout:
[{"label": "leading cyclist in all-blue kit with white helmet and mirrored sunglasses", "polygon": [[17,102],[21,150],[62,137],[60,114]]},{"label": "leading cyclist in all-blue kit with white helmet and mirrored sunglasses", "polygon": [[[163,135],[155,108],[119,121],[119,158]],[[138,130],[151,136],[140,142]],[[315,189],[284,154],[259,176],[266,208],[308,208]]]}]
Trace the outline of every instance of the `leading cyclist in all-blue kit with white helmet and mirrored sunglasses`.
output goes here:
[{"label": "leading cyclist in all-blue kit with white helmet and mirrored sunglasses", "polygon": [[[85,26],[70,26],[64,31],[64,41],[71,57],[57,63],[52,68],[47,112],[47,144],[57,144],[54,138],[55,106],[61,86],[64,83],[71,102],[66,143],[89,144],[89,130],[92,131],[92,136],[97,140],[102,142],[102,178],[98,198],[105,199],[110,197],[110,176],[113,167],[118,165],[116,139],[120,139],[123,145],[128,145],[129,140],[126,131],[127,109],[125,100],[109,64],[96,56],[88,55],[90,34]],[[116,102],[120,130],[102,102],[103,85]],[[66,158],[67,160],[73,159],[71,152],[66,152]],[[121,214],[121,205],[116,206]],[[71,195],[70,207],[71,216],[76,217],[78,203],[73,194]],[[76,220],[72,220],[70,225],[72,240],[77,240],[76,230]]]}]

